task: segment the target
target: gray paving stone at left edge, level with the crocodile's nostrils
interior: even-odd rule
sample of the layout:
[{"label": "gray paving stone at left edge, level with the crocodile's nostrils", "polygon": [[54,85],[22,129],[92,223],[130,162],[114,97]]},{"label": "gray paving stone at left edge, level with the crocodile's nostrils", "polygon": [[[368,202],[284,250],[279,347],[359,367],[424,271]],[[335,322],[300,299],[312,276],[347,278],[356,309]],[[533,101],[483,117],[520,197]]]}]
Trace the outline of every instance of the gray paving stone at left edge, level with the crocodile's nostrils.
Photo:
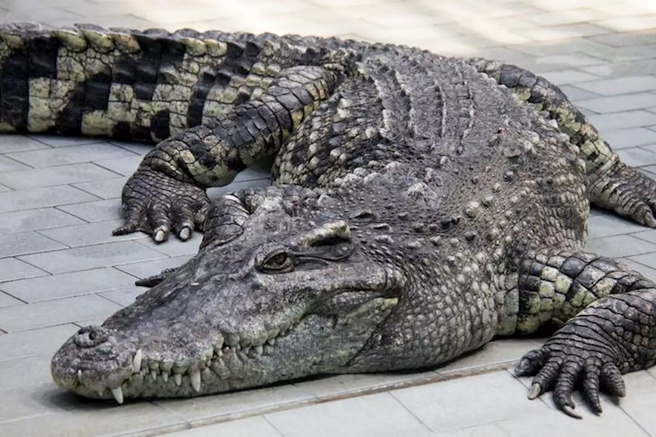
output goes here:
[{"label": "gray paving stone at left edge, level with the crocodile's nostrils", "polygon": [[79,327],[66,325],[50,326],[29,331],[0,335],[0,362],[35,355],[54,354]]}]

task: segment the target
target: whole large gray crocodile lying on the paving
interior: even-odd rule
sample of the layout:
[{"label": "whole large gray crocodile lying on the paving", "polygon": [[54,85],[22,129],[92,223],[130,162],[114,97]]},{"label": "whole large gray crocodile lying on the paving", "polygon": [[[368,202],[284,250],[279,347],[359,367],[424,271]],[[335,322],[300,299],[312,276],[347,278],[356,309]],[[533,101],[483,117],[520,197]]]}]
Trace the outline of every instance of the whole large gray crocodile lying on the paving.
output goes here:
[{"label": "whole large gray crocodile lying on the paving", "polygon": [[[556,85],[402,45],[189,29],[0,27],[0,131],[150,142],[125,222],[198,253],[54,354],[86,398],[184,398],[426,369],[495,338],[535,399],[625,396],[656,284],[584,249],[590,205],[656,227],[656,182]],[[247,168],[272,185],[210,201]]]}]

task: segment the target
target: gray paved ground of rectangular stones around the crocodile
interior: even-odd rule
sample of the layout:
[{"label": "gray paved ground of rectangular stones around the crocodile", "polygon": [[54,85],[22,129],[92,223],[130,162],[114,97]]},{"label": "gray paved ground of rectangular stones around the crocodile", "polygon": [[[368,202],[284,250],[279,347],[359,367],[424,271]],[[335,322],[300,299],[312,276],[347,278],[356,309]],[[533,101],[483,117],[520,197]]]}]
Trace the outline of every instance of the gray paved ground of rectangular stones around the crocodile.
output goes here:
[{"label": "gray paved ground of rectangular stones around the crocodile", "polygon": [[[335,34],[501,58],[562,85],[627,163],[656,177],[650,0],[0,0],[0,20]],[[495,342],[413,375],[334,377],[121,407],[63,395],[49,376],[60,343],[129,304],[143,290],[135,278],[182,264],[200,241],[155,246],[141,235],[110,236],[120,222],[121,186],[146,150],[0,137],[1,436],[656,436],[656,373],[628,375],[619,407],[606,400],[602,417],[579,407],[585,418],[574,421],[556,413],[548,396],[526,400],[528,381],[506,370],[539,344],[527,340]],[[213,196],[266,184],[264,176],[245,172]],[[656,279],[656,230],[596,211],[590,238],[590,249]],[[494,371],[441,381],[485,369]],[[216,421],[224,423],[200,427]]]}]

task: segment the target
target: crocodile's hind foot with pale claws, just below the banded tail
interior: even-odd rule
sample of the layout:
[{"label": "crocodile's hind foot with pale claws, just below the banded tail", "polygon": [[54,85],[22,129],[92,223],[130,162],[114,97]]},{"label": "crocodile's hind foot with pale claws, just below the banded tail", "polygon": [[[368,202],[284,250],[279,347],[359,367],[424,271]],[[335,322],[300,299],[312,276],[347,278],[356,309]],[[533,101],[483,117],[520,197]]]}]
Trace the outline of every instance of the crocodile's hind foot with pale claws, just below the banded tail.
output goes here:
[{"label": "crocodile's hind foot with pale claws, just below the banded tail", "polygon": [[142,167],[123,187],[125,223],[112,234],[142,231],[161,243],[174,232],[184,241],[203,230],[208,209],[203,188]]}]

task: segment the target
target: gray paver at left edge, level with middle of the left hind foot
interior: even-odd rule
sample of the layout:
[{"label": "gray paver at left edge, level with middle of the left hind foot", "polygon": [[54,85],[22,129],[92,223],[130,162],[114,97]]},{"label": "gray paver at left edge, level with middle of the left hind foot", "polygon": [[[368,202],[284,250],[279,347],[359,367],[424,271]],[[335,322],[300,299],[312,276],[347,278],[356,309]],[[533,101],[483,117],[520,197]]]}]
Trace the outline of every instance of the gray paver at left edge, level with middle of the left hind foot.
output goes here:
[{"label": "gray paver at left edge, level with middle of the left hind foot", "polygon": [[0,193],[0,213],[96,200],[96,196],[64,185]]}]

